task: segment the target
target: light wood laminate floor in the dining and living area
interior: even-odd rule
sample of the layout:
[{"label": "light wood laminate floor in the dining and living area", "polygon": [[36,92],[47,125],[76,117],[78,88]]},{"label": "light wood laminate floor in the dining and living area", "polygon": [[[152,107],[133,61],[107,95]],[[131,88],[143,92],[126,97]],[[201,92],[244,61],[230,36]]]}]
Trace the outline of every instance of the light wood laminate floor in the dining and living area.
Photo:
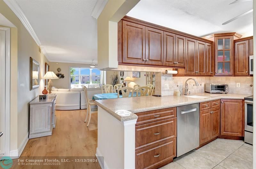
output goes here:
[{"label": "light wood laminate floor in the dining and living area", "polygon": [[[89,127],[86,127],[87,123],[84,123],[85,116],[86,109],[56,110],[57,123],[56,128],[52,131],[52,136],[29,139],[20,159],[35,156],[95,157],[97,147],[97,113],[92,114]],[[14,165],[18,167],[17,159],[14,160]],[[45,168],[49,168],[49,166],[45,166]],[[80,167],[73,166],[72,168]],[[87,164],[87,166],[83,165],[82,168],[100,168],[100,165],[98,162],[94,162]]]}]

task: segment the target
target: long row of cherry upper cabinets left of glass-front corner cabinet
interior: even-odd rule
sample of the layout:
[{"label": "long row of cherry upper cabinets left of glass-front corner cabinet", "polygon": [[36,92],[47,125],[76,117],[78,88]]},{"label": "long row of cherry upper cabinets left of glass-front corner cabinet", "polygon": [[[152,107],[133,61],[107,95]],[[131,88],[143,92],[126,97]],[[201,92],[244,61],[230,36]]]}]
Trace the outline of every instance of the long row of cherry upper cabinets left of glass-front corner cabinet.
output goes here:
[{"label": "long row of cherry upper cabinets left of glass-front corner cabinet", "polygon": [[[210,40],[127,16],[118,22],[117,31],[119,65],[174,67],[183,70],[185,65],[189,65],[186,71],[188,75],[211,75],[212,68],[206,65],[206,44],[211,46]],[[211,51],[212,49],[209,49],[209,53]],[[186,60],[186,55],[189,60]],[[212,57],[211,54],[209,57]],[[195,59],[196,64],[185,63],[191,63]],[[212,62],[209,63],[211,64]],[[209,70],[206,67],[209,67]]]}]

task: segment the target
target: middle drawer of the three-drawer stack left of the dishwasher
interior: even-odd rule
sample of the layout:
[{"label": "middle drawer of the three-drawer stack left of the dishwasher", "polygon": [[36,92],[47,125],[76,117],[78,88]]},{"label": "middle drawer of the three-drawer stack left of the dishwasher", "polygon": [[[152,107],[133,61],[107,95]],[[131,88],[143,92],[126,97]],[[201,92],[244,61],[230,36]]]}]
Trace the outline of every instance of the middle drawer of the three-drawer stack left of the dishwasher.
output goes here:
[{"label": "middle drawer of the three-drawer stack left of the dishwasher", "polygon": [[143,146],[177,136],[177,117],[142,124],[135,127],[135,147]]}]

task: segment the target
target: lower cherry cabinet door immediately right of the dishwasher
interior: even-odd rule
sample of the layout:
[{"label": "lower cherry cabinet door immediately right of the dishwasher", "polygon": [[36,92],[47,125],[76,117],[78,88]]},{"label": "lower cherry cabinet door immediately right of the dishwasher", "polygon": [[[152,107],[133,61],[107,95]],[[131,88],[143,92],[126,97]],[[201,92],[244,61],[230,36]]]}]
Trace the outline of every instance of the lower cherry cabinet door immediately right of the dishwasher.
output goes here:
[{"label": "lower cherry cabinet door immediately right of the dishwasher", "polygon": [[211,140],[211,113],[210,110],[200,111],[199,144]]}]

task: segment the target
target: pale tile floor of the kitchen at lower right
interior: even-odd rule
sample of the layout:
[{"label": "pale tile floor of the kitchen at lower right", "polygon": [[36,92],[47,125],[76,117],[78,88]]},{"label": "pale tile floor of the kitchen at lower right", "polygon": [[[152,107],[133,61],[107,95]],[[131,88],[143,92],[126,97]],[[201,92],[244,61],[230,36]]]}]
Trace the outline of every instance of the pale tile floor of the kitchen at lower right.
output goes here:
[{"label": "pale tile floor of the kitchen at lower right", "polygon": [[190,151],[162,169],[251,169],[252,145],[241,140],[216,139]]}]

